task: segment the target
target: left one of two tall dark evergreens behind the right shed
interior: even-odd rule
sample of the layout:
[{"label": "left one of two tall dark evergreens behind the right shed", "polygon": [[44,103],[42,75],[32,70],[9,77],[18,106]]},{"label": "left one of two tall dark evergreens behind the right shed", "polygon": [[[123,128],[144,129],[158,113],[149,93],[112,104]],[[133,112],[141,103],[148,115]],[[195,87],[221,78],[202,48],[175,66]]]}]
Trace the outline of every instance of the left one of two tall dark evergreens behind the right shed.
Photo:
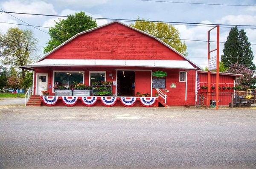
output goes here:
[{"label": "left one of two tall dark evergreens behind the right shed", "polygon": [[237,27],[235,26],[234,28],[231,28],[229,35],[227,36],[227,41],[224,44],[224,54],[221,56],[221,62],[223,62],[226,67],[236,63],[238,60],[238,36],[239,31]]}]

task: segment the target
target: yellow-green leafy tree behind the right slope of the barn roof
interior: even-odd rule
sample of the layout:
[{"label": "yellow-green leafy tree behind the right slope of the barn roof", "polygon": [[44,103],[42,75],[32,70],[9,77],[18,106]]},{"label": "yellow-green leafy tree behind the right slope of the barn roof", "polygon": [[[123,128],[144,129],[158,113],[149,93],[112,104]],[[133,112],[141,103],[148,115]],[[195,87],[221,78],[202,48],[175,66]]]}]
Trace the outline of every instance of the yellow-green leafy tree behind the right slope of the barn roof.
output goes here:
[{"label": "yellow-green leafy tree behind the right slope of the barn roof", "polygon": [[172,48],[175,48],[181,54],[185,56],[188,55],[186,51],[186,44],[180,40],[180,33],[174,26],[162,22],[149,22],[144,19],[140,19],[140,17],[137,18],[134,24],[130,25],[148,34],[154,35],[155,37],[159,37],[159,39],[161,39]]}]

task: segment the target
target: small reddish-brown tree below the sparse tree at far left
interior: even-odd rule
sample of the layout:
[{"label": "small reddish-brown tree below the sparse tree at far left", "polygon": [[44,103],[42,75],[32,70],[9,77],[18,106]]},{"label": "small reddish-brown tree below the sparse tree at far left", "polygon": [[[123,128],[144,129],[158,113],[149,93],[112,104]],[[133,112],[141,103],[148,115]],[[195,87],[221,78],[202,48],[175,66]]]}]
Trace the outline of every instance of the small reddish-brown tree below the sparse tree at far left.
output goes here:
[{"label": "small reddish-brown tree below the sparse tree at far left", "polygon": [[23,80],[19,76],[19,73],[15,70],[15,68],[12,67],[10,70],[10,77],[7,80],[8,87],[13,88],[14,91],[16,92],[16,90],[22,86],[22,83],[23,83]]}]

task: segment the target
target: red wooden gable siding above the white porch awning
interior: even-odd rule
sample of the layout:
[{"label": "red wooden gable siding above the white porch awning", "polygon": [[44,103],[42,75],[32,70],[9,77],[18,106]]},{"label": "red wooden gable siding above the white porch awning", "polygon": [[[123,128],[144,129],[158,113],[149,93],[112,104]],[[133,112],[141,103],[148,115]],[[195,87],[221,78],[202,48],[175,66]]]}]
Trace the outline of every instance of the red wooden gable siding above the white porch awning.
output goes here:
[{"label": "red wooden gable siding above the white porch awning", "polygon": [[120,23],[82,34],[46,58],[185,60],[156,39]]}]

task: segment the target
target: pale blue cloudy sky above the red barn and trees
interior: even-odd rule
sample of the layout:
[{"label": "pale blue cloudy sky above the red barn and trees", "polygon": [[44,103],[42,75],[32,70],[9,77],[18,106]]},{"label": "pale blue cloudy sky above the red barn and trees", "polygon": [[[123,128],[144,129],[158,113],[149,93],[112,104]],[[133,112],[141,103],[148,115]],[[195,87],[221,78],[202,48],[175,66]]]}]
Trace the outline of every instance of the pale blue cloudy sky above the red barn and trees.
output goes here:
[{"label": "pale blue cloudy sky above the red barn and trees", "polygon": [[[180,2],[226,3],[240,5],[256,5],[256,0],[176,0]],[[256,7],[246,6],[209,6],[178,3],[157,3],[137,0],[0,0],[0,8],[5,11],[67,15],[84,11],[92,17],[162,20],[173,22],[219,23],[236,25],[256,25]],[[56,17],[13,14],[15,17],[31,25],[53,26]],[[8,14],[0,14],[0,22],[21,23]],[[108,23],[97,20],[98,25]],[[130,23],[126,23],[130,24]],[[43,47],[49,35],[28,26],[0,23],[0,33],[4,34],[10,27],[32,29],[39,39],[38,55],[42,55]],[[175,25],[180,31],[181,39],[207,40],[209,27]],[[47,28],[41,28],[48,31]],[[220,41],[225,42],[230,28],[220,29]],[[256,43],[256,29],[246,28],[249,42]],[[207,42],[185,41],[189,59],[202,67],[207,65]],[[221,43],[220,51],[224,44]],[[256,64],[256,45],[251,45]]]}]

